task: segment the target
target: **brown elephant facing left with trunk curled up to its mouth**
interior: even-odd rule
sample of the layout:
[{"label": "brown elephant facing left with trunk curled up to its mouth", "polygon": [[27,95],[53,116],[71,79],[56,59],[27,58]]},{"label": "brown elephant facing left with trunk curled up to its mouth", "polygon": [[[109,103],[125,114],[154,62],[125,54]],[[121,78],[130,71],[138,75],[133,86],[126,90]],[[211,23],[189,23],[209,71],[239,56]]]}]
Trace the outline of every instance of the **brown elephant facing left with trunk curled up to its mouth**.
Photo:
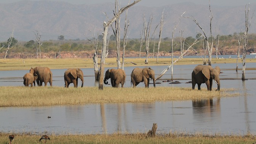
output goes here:
[{"label": "brown elephant facing left with trunk curled up to its mouth", "polygon": [[108,69],[105,73],[104,83],[107,85],[107,80],[110,78],[112,87],[118,88],[119,83],[121,83],[122,88],[125,83],[125,71],[122,69]]}]

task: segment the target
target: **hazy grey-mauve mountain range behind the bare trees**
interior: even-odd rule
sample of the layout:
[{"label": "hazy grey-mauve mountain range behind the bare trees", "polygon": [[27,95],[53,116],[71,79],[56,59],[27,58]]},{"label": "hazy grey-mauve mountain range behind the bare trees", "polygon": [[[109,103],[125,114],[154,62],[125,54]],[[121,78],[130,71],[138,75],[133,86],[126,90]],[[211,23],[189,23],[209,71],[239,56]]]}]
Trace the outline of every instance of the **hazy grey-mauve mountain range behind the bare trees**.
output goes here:
[{"label": "hazy grey-mauve mountain range behind the bare trees", "polygon": [[[246,5],[246,4],[245,4]],[[245,5],[241,6],[215,6],[211,5],[213,13],[213,34],[229,35],[234,32],[244,31]],[[22,1],[16,3],[0,4],[0,41],[6,41],[13,30],[14,38],[19,41],[35,39],[34,32],[37,30],[42,35],[42,40],[57,40],[63,35],[65,39],[87,39],[91,38],[94,30],[101,34],[103,22],[107,21],[104,13],[109,19],[113,17],[114,3],[97,5],[72,5],[66,2]],[[184,16],[194,17],[210,35],[210,11],[209,5],[196,5],[192,2],[166,5],[162,7],[132,6],[128,10],[130,34],[128,38],[139,38],[143,29],[143,14],[148,21],[153,15],[151,34],[160,22],[162,12],[165,14],[165,25],[162,38],[171,37],[174,22],[178,22],[179,16],[184,11]],[[256,4],[250,4],[250,17],[256,10]],[[125,13],[121,15],[121,32],[124,27]],[[216,29],[216,30],[215,30]],[[182,18],[179,23],[175,37],[179,37],[179,31],[183,30],[183,37],[195,37],[198,26],[189,18]],[[159,28],[156,31],[158,37]],[[200,31],[201,32],[201,31]],[[256,16],[253,16],[249,33],[256,33]],[[110,35],[113,34],[110,30]],[[121,34],[122,37],[122,34]],[[154,36],[153,36],[154,37]]]}]

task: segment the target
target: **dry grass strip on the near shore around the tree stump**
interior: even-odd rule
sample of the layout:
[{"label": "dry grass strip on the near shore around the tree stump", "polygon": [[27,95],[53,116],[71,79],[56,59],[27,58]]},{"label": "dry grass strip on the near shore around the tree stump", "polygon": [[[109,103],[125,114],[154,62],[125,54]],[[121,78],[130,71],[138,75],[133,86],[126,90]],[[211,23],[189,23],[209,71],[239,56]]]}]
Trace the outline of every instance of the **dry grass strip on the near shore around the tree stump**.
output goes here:
[{"label": "dry grass strip on the near shore around the tree stump", "polygon": [[[0,133],[0,143],[8,144],[10,133]],[[39,143],[44,135],[14,134],[13,144]],[[135,134],[81,134],[81,135],[48,135],[51,140],[46,144],[253,144],[255,136],[220,136],[220,135],[184,135],[184,134],[158,134],[154,138],[146,138],[145,133]],[[43,143],[43,141],[41,141]]]}]

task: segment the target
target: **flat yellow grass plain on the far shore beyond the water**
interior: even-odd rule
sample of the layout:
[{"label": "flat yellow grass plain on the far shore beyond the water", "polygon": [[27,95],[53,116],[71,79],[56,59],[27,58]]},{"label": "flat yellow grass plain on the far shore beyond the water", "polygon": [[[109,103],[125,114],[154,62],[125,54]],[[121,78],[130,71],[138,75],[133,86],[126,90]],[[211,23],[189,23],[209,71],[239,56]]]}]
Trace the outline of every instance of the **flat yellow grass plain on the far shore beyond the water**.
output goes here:
[{"label": "flat yellow grass plain on the far shore beyond the water", "polygon": [[[175,59],[174,59],[175,60]],[[100,61],[100,60],[99,60]],[[106,67],[116,67],[116,58],[106,58]],[[121,59],[122,61],[122,59]],[[137,65],[128,63],[125,66],[161,66],[170,65],[171,58],[160,58],[158,63],[156,58],[150,58],[149,64],[145,64],[145,59],[126,58],[125,62],[134,62]],[[239,62],[242,62],[239,60]],[[246,62],[256,62],[256,59],[247,59]],[[212,59],[212,63],[236,63],[236,59]],[[202,64],[201,58],[184,58],[175,64]],[[68,68],[91,68],[93,67],[92,58],[77,59],[0,59],[0,70],[29,70],[31,67],[49,67],[50,69]]]}]

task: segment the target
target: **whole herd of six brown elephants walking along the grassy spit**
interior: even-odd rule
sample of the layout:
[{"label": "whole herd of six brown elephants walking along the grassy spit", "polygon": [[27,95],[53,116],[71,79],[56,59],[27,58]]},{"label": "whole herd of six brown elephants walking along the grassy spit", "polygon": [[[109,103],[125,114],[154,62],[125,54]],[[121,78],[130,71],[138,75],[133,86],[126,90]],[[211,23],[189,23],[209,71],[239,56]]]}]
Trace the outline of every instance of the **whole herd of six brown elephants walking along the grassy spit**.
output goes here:
[{"label": "whole herd of six brown elephants walking along the grassy spit", "polygon": [[[219,74],[221,70],[218,66],[215,68],[206,65],[198,65],[192,72],[192,89],[195,89],[195,84],[198,85],[198,90],[202,83],[206,83],[207,90],[212,89],[213,79],[218,84],[218,89],[220,89]],[[64,72],[65,87],[68,88],[70,83],[74,84],[77,88],[78,78],[82,81],[83,87],[83,72],[81,69],[67,69]],[[122,69],[108,69],[105,73],[104,83],[107,85],[107,80],[110,78],[112,87],[118,87],[121,83],[122,87],[125,83],[126,74]],[[131,72],[131,83],[133,87],[136,87],[140,82],[145,83],[145,87],[149,87],[150,78],[153,80],[155,87],[155,72],[153,69],[149,68],[139,68],[136,67]],[[53,84],[53,73],[48,67],[35,67],[30,69],[29,73],[25,74],[23,77],[25,86],[35,85],[37,81],[38,86],[42,86],[43,82],[45,86],[49,82],[52,86]]]}]

